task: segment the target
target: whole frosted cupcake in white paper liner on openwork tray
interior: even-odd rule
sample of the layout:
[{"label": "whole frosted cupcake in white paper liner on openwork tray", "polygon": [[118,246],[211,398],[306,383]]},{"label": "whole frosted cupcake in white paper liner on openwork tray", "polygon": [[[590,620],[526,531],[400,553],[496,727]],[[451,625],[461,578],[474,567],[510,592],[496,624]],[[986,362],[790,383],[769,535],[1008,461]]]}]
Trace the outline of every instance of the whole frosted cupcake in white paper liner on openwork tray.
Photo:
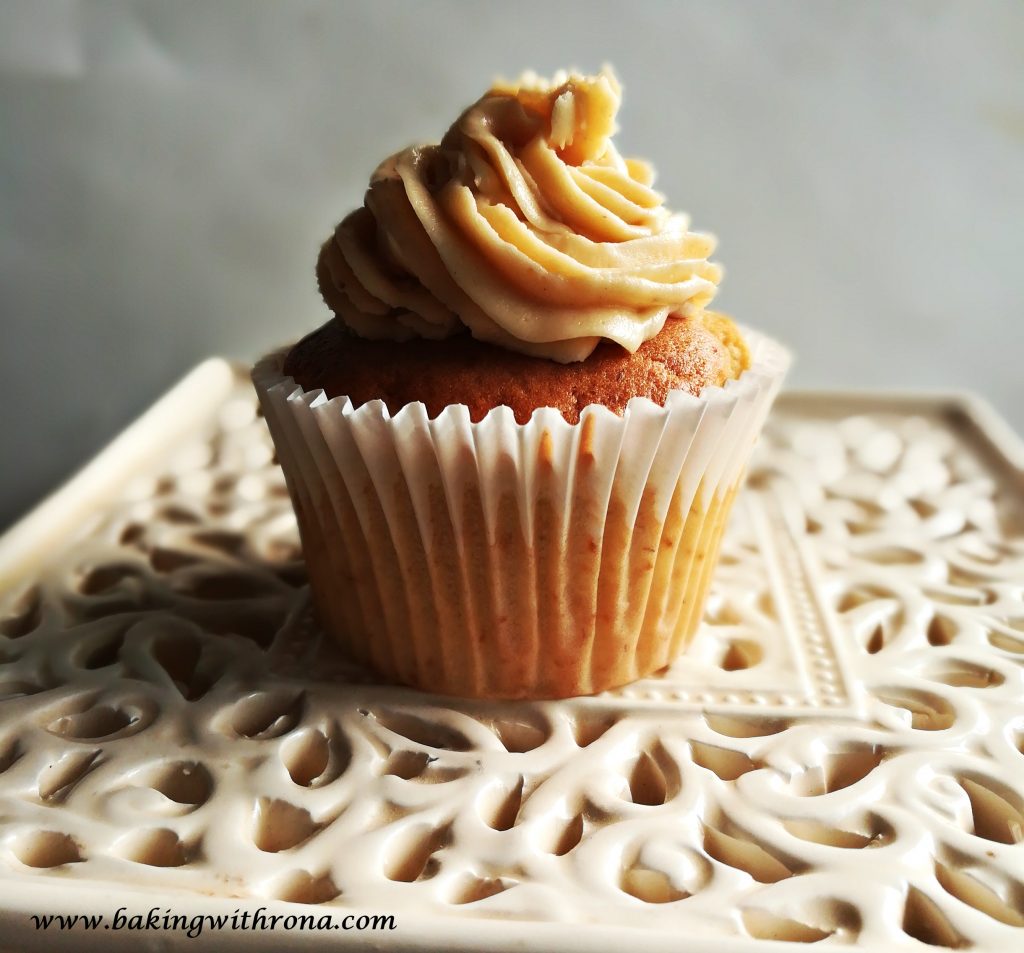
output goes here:
[{"label": "whole frosted cupcake in white paper liner on openwork tray", "polygon": [[708,310],[620,101],[527,76],[385,160],[319,252],[334,317],[253,371],[321,622],[386,679],[590,694],[700,620],[787,357]]}]

